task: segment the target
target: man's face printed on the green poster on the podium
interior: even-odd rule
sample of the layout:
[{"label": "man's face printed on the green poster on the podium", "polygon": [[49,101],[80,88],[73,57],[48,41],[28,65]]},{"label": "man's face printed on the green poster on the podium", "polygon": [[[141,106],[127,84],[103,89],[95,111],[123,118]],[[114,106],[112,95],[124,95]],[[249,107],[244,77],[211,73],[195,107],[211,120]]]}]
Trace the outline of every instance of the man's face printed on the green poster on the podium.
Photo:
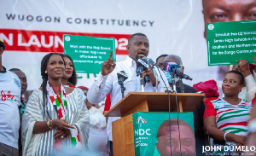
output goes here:
[{"label": "man's face printed on the green poster on the podium", "polygon": [[[171,144],[172,144],[172,155],[189,155],[194,156],[195,153],[195,136],[193,130],[189,125],[179,125],[180,130],[180,141],[179,143],[179,132],[177,125],[171,126],[171,143],[170,143],[170,129],[169,126],[163,127],[163,136],[157,138],[156,147],[161,156],[171,155]],[[181,147],[180,147],[181,144]],[[180,153],[181,152],[181,153]]]}]

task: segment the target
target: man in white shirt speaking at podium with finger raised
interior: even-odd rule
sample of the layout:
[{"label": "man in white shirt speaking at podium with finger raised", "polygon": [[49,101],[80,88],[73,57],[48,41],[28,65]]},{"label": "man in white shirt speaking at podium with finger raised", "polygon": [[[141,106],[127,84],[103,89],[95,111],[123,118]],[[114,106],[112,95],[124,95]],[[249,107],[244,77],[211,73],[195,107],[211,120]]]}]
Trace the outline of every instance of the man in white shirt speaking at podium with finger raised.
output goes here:
[{"label": "man in white shirt speaking at podium with finger raised", "polygon": [[[128,56],[125,61],[120,61],[115,64],[112,58],[112,52],[109,55],[107,61],[102,63],[102,72],[97,76],[93,84],[90,86],[88,91],[88,101],[90,103],[98,103],[110,92],[111,93],[111,107],[116,105],[121,99],[121,88],[118,84],[117,72],[124,71],[128,78],[124,81],[126,88],[125,95],[131,91],[141,92],[140,78],[137,77],[137,59],[142,59],[144,56],[148,56],[149,42],[146,35],[143,33],[135,33],[131,35],[128,40],[126,47]],[[145,92],[154,92],[155,90],[160,91],[162,87],[169,87],[168,81],[164,73],[159,70],[155,72],[158,78],[155,78],[152,70],[143,71],[143,76],[148,75],[150,83],[146,83],[144,90]],[[160,75],[162,78],[160,78]],[[158,82],[158,80],[159,82]],[[159,83],[159,84],[158,84]],[[157,88],[154,86],[157,85]],[[119,119],[119,117],[109,117],[107,125],[108,143],[110,144],[110,151],[112,152],[112,122]]]}]

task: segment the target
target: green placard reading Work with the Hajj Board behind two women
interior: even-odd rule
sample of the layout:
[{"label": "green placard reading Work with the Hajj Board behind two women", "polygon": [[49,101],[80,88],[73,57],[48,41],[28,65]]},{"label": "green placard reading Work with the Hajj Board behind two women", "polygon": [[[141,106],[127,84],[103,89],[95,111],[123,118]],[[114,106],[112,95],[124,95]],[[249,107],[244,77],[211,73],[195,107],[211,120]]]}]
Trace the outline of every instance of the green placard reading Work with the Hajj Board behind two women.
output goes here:
[{"label": "green placard reading Work with the Hajj Board behind two women", "polygon": [[116,61],[114,38],[64,35],[64,54],[71,56],[76,72],[99,73],[111,50]]}]

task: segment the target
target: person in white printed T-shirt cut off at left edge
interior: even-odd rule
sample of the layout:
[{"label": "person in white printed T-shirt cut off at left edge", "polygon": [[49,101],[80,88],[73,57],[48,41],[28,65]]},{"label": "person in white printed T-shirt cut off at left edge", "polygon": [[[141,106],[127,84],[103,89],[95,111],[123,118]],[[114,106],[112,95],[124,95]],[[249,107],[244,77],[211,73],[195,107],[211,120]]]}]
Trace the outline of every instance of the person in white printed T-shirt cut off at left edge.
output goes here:
[{"label": "person in white printed T-shirt cut off at left edge", "polygon": [[2,66],[5,45],[0,41],[0,155],[19,155],[20,78]]}]

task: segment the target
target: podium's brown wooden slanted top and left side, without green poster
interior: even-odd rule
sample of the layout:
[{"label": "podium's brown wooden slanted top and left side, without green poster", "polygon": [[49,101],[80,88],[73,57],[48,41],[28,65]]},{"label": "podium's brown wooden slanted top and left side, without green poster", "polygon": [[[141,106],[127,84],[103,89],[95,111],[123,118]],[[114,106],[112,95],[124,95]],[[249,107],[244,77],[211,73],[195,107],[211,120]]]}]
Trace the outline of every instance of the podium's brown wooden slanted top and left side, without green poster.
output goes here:
[{"label": "podium's brown wooden slanted top and left side, without green poster", "polygon": [[[203,93],[131,92],[108,112],[106,117],[121,117],[112,123],[113,155],[135,155],[132,113],[137,112],[193,112],[203,100]],[[178,107],[178,108],[177,108]]]}]

